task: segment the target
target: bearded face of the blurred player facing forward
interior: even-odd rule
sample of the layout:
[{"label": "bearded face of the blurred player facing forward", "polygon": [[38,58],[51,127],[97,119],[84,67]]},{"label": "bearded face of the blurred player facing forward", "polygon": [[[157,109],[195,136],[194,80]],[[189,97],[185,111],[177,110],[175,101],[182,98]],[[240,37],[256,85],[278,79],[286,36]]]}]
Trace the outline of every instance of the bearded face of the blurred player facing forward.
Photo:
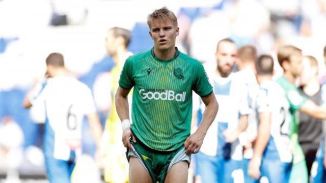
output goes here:
[{"label": "bearded face of the blurred player facing forward", "polygon": [[221,75],[228,76],[238,58],[236,45],[226,41],[221,42],[216,50],[215,57]]}]

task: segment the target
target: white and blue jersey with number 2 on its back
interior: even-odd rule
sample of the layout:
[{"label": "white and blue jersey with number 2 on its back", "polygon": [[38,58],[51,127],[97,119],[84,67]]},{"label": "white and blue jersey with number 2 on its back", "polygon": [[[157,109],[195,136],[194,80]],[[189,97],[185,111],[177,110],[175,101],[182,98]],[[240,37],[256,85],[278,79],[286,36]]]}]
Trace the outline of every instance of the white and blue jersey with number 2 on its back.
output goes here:
[{"label": "white and blue jersey with number 2 on its back", "polygon": [[284,163],[291,162],[292,153],[288,135],[291,114],[283,88],[274,81],[264,81],[260,84],[256,102],[257,113],[271,112],[270,139],[264,157],[275,158]]}]

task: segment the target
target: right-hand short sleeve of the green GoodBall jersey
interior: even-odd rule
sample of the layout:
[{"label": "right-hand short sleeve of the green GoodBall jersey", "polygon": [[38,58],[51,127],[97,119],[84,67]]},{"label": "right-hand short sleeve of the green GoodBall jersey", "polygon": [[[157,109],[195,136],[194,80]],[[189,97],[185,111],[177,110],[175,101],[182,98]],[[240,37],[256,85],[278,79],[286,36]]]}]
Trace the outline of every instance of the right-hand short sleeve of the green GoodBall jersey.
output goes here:
[{"label": "right-hand short sleeve of the green GoodBall jersey", "polygon": [[195,65],[195,82],[193,90],[201,97],[205,97],[212,93],[213,89],[208,81],[208,76],[202,65]]}]

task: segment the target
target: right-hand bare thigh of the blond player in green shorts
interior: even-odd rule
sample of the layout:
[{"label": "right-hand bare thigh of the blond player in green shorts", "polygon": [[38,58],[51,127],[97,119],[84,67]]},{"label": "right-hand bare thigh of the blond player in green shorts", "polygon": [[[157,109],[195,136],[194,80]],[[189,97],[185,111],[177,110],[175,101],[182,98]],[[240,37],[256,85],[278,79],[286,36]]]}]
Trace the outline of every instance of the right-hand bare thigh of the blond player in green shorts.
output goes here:
[{"label": "right-hand bare thigh of the blond player in green shorts", "polygon": [[183,161],[174,164],[171,167],[165,179],[165,183],[170,183],[170,182],[187,183],[187,178],[188,178],[188,163]]}]

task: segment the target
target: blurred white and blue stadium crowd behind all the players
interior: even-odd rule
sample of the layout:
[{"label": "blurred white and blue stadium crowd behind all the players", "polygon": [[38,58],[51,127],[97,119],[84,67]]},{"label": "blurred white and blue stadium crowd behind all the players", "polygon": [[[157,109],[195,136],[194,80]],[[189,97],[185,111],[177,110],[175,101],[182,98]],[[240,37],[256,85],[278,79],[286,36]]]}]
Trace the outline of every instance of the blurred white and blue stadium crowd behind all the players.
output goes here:
[{"label": "blurred white and blue stadium crowd behind all the players", "polygon": [[[325,74],[325,0],[0,0],[0,179],[10,167],[27,177],[45,173],[43,125],[22,102],[43,78],[46,56],[65,56],[68,70],[92,89],[104,126],[111,99],[101,88],[110,80],[98,79],[114,66],[104,46],[107,30],[126,28],[131,32],[128,49],[148,50],[153,43],[147,15],[163,6],[178,17],[179,50],[207,69],[216,68],[216,43],[229,37],[238,47],[251,44],[258,54],[273,56],[279,45],[292,44],[316,57],[319,74]],[[275,67],[276,74],[282,74],[278,64]],[[83,150],[93,155],[95,144],[86,122]],[[10,156],[5,156],[8,151]]]}]

